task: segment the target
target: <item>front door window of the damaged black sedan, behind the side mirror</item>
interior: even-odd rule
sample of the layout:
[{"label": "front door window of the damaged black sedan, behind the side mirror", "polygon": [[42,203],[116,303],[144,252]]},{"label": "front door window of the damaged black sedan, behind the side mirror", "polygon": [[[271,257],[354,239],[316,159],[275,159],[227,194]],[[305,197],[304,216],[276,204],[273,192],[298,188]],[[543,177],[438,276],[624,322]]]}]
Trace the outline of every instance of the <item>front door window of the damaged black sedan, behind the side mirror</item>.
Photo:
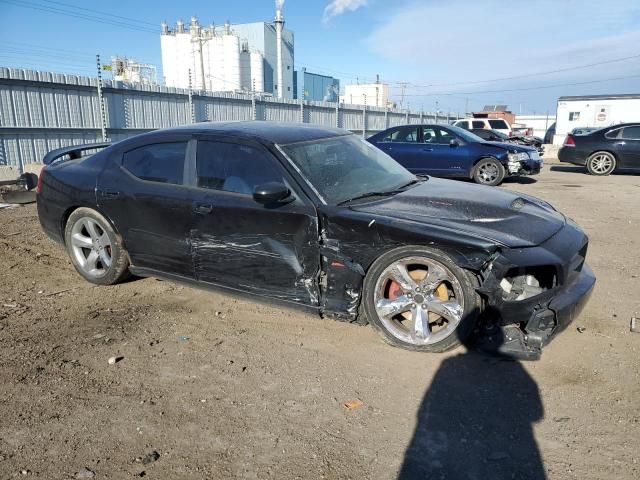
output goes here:
[{"label": "front door window of the damaged black sedan, behind the side mirror", "polygon": [[198,141],[198,187],[253,194],[257,185],[282,182],[282,173],[270,156],[237,143]]}]

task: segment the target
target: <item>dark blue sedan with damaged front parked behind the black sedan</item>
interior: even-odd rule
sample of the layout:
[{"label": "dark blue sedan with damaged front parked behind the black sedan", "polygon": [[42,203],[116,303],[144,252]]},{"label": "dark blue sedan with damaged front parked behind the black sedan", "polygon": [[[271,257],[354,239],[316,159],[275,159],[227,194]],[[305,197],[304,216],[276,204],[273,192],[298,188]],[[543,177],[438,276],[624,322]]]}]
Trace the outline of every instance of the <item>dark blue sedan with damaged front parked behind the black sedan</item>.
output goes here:
[{"label": "dark blue sedan with damaged front parked behind the black sedan", "polygon": [[487,142],[450,125],[393,127],[368,140],[416,175],[500,185],[507,176],[536,175],[542,168],[535,148]]}]

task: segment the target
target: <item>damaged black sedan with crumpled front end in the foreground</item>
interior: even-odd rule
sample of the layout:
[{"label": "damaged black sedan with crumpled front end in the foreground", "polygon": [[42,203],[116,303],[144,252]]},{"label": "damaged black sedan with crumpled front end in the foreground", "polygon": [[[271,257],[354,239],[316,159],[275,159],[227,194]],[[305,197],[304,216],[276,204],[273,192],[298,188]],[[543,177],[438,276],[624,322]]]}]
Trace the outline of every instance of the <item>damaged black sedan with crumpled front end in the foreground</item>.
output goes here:
[{"label": "damaged black sedan with crumpled front end in the foreground", "polygon": [[344,130],[196,124],[45,164],[42,227],[96,284],[223,288],[371,323],[418,351],[480,328],[533,358],[595,283],[586,235],[548,203],[417,177]]}]

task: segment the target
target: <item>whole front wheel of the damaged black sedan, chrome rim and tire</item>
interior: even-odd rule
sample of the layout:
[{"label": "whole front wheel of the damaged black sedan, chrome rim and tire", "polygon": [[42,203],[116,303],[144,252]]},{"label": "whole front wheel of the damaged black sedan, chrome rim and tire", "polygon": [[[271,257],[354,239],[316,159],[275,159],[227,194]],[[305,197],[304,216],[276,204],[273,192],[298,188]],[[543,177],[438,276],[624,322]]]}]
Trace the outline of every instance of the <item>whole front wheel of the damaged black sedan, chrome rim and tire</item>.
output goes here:
[{"label": "whole front wheel of the damaged black sedan, chrome rim and tire", "polygon": [[387,343],[444,352],[471,334],[480,310],[475,277],[445,253],[400,247],[378,258],[364,280],[362,309]]}]

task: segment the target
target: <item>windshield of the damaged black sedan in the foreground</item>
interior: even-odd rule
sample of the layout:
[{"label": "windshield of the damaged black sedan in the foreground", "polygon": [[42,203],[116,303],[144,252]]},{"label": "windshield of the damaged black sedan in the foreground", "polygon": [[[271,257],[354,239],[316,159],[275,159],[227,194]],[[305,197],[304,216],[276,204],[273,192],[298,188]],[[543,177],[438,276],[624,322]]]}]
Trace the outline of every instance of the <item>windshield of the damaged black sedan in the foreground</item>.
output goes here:
[{"label": "windshield of the damaged black sedan in the foreground", "polygon": [[394,159],[356,135],[280,145],[325,202],[337,205],[416,180]]}]

